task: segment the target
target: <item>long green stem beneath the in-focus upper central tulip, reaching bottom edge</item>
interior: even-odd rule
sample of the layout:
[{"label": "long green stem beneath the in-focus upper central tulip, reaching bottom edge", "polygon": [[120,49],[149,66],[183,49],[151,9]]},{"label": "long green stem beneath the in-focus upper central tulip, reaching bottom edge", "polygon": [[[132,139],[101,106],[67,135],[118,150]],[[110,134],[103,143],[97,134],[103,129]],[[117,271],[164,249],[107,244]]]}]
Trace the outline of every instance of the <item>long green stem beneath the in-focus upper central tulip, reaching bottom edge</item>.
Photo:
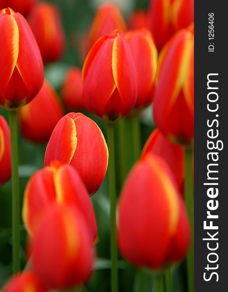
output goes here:
[{"label": "long green stem beneath the in-focus upper central tulip, reaching bottom edge", "polygon": [[111,250],[111,292],[118,291],[117,238],[116,238],[116,176],[114,150],[114,124],[107,124],[109,151],[108,179],[110,196],[110,250]]}]

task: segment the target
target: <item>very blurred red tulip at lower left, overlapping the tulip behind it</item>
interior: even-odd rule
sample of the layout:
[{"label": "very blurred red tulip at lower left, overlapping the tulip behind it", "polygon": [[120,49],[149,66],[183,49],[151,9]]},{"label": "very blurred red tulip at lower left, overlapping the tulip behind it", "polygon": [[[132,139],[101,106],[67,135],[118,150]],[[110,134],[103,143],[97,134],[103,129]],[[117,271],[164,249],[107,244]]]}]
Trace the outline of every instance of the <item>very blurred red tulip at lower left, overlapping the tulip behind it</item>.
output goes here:
[{"label": "very blurred red tulip at lower left, overlapping the tulip behind it", "polygon": [[65,204],[50,206],[32,241],[32,267],[53,289],[85,283],[92,270],[93,242],[80,212]]}]

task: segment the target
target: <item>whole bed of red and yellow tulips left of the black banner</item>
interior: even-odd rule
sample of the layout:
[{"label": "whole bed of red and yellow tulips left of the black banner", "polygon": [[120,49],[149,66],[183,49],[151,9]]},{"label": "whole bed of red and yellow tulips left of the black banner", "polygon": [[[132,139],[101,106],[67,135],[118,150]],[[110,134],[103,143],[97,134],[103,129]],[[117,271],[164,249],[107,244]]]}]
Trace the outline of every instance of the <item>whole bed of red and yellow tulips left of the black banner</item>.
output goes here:
[{"label": "whole bed of red and yellow tulips left of the black banner", "polygon": [[193,292],[193,0],[0,0],[0,289]]}]

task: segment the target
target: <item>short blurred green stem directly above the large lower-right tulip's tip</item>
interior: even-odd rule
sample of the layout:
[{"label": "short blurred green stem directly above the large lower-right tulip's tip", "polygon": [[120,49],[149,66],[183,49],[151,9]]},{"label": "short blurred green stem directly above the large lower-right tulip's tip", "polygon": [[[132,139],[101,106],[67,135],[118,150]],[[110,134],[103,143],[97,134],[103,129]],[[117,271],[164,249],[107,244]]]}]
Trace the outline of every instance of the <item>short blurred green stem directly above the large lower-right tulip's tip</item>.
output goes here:
[{"label": "short blurred green stem directly above the large lower-right tulip's tip", "polygon": [[133,138],[133,163],[135,163],[141,152],[141,132],[140,132],[140,117],[139,113],[135,112],[131,118],[132,138]]}]

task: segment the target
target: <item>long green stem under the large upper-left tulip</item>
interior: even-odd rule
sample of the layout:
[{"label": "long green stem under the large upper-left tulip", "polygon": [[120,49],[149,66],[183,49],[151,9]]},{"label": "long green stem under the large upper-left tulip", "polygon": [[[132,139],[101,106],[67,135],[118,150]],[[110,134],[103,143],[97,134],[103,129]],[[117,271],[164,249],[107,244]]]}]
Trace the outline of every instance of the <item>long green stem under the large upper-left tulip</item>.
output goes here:
[{"label": "long green stem under the large upper-left tulip", "polygon": [[20,193],[18,176],[18,111],[9,110],[12,171],[12,245],[13,274],[20,270]]}]

